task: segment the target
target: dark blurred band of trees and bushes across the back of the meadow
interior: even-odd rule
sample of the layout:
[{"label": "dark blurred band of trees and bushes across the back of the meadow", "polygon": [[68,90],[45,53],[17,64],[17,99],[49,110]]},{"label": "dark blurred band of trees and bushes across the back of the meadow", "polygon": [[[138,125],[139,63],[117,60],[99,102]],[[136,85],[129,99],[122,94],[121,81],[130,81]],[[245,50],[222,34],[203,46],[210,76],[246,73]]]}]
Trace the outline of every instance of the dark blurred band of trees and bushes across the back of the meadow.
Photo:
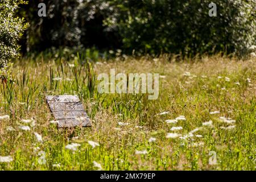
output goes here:
[{"label": "dark blurred band of trees and bushes across the back of the meadow", "polygon": [[[36,6],[37,1],[33,1]],[[255,0],[47,1],[47,17],[30,11],[30,47],[96,46],[159,54],[237,53],[256,39]],[[32,4],[31,4],[32,5]],[[36,9],[36,8],[35,8]],[[33,28],[32,27],[32,28]],[[39,39],[38,39],[39,37]],[[36,44],[35,44],[36,43]]]}]

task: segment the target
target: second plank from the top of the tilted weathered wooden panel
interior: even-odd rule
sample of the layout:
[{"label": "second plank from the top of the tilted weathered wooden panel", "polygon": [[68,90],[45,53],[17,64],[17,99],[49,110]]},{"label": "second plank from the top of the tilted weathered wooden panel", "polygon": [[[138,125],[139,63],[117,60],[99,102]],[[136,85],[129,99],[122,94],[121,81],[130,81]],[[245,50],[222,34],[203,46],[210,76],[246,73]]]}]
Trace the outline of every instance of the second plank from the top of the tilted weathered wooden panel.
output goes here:
[{"label": "second plank from the top of the tilted weathered wooden panel", "polygon": [[52,111],[84,110],[81,102],[49,103],[48,105]]}]

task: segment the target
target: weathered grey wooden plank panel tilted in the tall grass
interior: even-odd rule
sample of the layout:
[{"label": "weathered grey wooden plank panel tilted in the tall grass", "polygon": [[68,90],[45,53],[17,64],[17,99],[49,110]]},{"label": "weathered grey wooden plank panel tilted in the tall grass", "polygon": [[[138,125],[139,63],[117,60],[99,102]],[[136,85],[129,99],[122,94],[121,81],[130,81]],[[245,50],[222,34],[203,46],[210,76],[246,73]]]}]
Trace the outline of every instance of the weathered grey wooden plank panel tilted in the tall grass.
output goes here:
[{"label": "weathered grey wooden plank panel tilted in the tall grass", "polygon": [[46,100],[58,127],[92,126],[77,96],[47,96]]}]

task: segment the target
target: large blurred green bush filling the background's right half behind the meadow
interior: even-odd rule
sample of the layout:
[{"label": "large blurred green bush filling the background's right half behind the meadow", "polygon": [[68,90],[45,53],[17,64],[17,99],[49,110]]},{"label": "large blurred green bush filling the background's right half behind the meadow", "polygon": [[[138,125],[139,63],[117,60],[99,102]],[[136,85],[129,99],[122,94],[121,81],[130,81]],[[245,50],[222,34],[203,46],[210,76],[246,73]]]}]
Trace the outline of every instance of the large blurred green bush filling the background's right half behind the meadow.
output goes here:
[{"label": "large blurred green bush filling the background's right half behind the meadow", "polygon": [[214,2],[217,17],[209,16],[208,0],[115,0],[108,24],[129,51],[245,55],[255,44],[256,1]]}]

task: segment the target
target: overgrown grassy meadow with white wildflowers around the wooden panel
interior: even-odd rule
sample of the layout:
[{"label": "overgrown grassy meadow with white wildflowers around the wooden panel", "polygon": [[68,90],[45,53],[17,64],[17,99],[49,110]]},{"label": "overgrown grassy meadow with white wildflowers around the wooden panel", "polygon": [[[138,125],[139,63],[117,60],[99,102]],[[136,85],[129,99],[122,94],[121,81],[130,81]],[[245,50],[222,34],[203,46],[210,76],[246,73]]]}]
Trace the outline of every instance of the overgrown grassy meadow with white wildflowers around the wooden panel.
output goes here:
[{"label": "overgrown grassy meadow with white wildflowers around the wooden panel", "polygon": [[[99,94],[111,68],[159,73],[158,99]],[[13,78],[0,84],[0,170],[255,170],[255,59],[38,57],[15,63]],[[92,127],[57,129],[53,94],[77,94]]]}]

